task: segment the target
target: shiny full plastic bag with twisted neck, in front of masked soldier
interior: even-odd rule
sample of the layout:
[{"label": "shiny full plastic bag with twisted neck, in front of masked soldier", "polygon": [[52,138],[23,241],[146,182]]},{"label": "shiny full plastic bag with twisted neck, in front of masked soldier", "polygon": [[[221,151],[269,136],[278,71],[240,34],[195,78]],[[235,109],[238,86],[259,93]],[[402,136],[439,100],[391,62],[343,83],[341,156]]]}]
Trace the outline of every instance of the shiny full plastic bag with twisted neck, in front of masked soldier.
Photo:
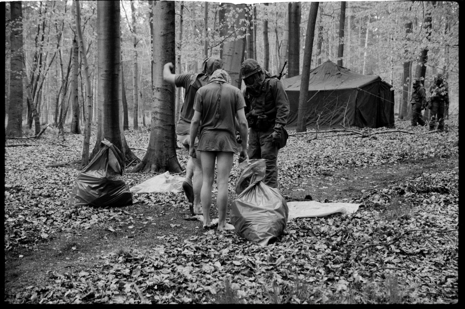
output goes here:
[{"label": "shiny full plastic bag with twisted neck, in front of masked soldier", "polygon": [[247,160],[236,183],[236,192],[250,179],[247,188],[231,204],[229,218],[242,237],[261,246],[273,243],[286,227],[289,210],[281,191],[263,183],[265,159]]}]

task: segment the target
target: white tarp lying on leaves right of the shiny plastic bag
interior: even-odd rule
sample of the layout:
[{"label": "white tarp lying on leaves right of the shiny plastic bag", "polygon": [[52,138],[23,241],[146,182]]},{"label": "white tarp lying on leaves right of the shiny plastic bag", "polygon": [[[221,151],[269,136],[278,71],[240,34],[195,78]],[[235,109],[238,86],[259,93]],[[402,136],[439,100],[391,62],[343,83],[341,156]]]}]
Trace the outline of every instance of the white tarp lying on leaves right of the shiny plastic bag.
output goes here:
[{"label": "white tarp lying on leaves right of the shiny plastic bag", "polygon": [[317,201],[287,202],[289,215],[287,220],[295,218],[325,217],[333,213],[354,213],[359,210],[360,204],[351,203],[320,203]]}]

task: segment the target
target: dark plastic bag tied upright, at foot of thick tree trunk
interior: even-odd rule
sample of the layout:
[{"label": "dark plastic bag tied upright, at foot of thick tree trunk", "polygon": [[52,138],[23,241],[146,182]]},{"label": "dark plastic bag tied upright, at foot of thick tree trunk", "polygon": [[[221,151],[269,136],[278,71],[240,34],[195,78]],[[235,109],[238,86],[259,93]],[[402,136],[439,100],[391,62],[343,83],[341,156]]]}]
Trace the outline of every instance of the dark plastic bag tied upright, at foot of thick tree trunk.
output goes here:
[{"label": "dark plastic bag tied upright, at foot of thick tree trunk", "polygon": [[115,207],[133,204],[123,179],[125,164],[118,148],[106,139],[93,160],[79,172],[69,206]]}]

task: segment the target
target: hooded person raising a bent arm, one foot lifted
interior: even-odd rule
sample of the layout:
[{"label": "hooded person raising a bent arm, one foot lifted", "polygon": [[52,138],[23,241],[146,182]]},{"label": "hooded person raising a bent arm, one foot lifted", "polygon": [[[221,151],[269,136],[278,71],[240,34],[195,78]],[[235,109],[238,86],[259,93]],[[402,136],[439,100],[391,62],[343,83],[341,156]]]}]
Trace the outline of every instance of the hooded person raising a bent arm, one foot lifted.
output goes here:
[{"label": "hooded person raising a bent arm, one foot lifted", "polygon": [[[216,57],[208,57],[202,63],[202,72],[200,73],[183,73],[173,74],[173,63],[166,63],[163,67],[163,79],[176,87],[183,87],[186,92],[184,102],[179,112],[179,120],[176,124],[176,135],[179,142],[189,151],[190,137],[189,130],[191,119],[194,115],[194,99],[197,90],[208,83],[208,79],[212,73],[223,67],[223,60]],[[199,141],[194,140],[195,145]],[[189,157],[186,166],[186,178],[182,184],[184,192],[189,203],[189,210],[192,216],[202,213],[200,205],[200,189],[202,186],[202,166],[200,160]]]}]

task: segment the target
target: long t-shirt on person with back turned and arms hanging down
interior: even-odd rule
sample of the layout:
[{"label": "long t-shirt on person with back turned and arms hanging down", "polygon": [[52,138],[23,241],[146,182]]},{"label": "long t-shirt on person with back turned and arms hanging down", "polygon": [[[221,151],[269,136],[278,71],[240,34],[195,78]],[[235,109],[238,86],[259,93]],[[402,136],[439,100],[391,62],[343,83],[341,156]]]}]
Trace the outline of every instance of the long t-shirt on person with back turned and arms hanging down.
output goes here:
[{"label": "long t-shirt on person with back turned and arms hanging down", "polygon": [[[218,103],[220,86],[221,98]],[[201,113],[197,149],[237,152],[234,117],[245,106],[242,92],[233,85],[212,82],[200,87],[194,103],[194,110]]]}]

